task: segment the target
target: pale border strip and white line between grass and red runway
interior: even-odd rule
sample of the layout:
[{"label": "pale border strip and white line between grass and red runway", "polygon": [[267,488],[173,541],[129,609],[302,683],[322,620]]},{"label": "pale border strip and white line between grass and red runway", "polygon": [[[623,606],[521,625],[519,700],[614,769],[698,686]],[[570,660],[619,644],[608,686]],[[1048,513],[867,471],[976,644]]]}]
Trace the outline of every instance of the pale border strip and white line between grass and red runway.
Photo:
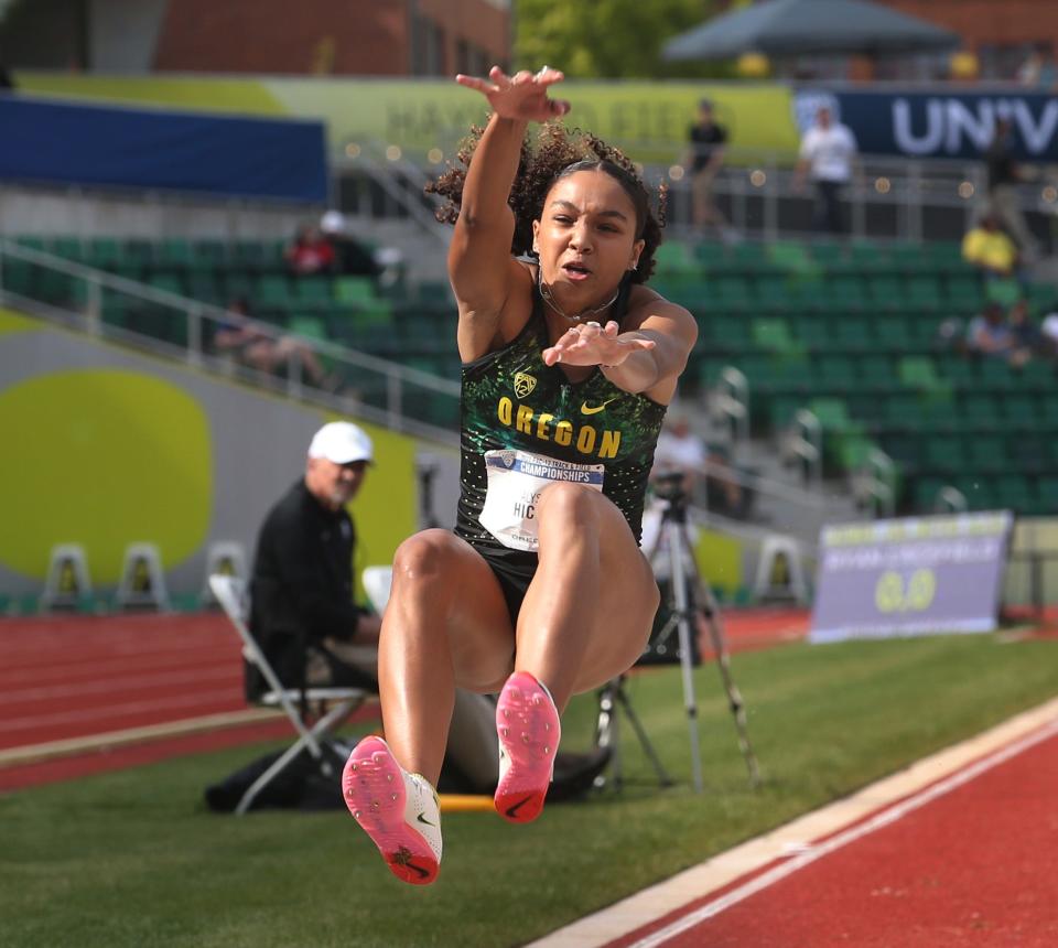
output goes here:
[{"label": "pale border strip and white line between grass and red runway", "polygon": [[[527,948],[598,948],[738,879],[759,872],[776,860],[790,860],[695,909],[671,926],[637,941],[634,948],[660,945],[704,918],[832,852],[839,845],[899,819],[989,767],[996,766],[1055,734],[1058,734],[1058,699],[1018,714],[975,737],[918,761],[851,797],[807,814],[608,908],[560,928]],[[855,826],[841,832],[852,823]],[[832,836],[833,833],[839,834]],[[827,839],[819,845],[810,842],[823,838]],[[781,874],[771,877],[774,873]],[[738,897],[735,897],[736,895]],[[732,898],[734,901],[728,901]],[[657,940],[659,938],[660,940]]]}]

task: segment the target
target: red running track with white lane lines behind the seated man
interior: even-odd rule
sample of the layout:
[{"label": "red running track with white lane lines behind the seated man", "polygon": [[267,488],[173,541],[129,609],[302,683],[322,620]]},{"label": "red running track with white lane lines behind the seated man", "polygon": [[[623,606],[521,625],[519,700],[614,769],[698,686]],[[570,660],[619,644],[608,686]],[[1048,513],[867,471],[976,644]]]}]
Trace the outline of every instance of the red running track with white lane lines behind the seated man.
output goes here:
[{"label": "red running track with white lane lines behind the seated man", "polygon": [[[724,616],[733,651],[797,639],[808,627],[802,610]],[[0,752],[73,739],[90,743],[246,707],[239,640],[219,612],[0,620]],[[121,747],[100,739],[98,748],[78,755],[0,765],[0,791],[289,732],[279,720]]]}]

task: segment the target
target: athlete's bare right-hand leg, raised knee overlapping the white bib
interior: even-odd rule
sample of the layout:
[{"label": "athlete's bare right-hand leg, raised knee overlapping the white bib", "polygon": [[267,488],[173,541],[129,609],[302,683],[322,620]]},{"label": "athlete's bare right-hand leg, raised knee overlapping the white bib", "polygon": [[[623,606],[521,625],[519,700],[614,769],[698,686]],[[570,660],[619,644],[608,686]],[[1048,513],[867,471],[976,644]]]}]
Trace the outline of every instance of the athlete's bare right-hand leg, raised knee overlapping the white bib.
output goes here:
[{"label": "athlete's bare right-hand leg, raised knee overlapping the white bib", "polygon": [[537,517],[540,565],[518,616],[515,667],[561,711],[635,664],[659,593],[624,516],[597,491],[547,487]]}]

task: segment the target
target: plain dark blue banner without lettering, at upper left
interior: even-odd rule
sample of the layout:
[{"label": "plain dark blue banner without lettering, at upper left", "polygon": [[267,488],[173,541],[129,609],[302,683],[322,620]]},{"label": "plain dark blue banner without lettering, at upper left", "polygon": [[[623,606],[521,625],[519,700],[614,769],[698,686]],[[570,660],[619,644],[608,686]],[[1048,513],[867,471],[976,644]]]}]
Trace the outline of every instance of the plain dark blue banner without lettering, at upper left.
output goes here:
[{"label": "plain dark blue banner without lettering, at upper left", "polygon": [[324,127],[0,95],[0,180],[324,203]]}]

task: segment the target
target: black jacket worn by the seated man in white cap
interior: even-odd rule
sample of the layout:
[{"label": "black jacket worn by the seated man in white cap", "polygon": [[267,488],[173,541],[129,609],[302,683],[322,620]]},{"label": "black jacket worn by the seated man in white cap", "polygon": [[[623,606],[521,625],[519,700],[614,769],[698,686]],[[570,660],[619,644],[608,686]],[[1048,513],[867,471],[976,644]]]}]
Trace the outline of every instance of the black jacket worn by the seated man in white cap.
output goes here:
[{"label": "black jacket worn by the seated man in white cap", "polygon": [[[350,639],[356,530],[345,508],[326,509],[299,481],[269,511],[250,580],[250,631],[288,686],[303,685],[305,646]],[[249,694],[260,682],[247,680]]]}]

